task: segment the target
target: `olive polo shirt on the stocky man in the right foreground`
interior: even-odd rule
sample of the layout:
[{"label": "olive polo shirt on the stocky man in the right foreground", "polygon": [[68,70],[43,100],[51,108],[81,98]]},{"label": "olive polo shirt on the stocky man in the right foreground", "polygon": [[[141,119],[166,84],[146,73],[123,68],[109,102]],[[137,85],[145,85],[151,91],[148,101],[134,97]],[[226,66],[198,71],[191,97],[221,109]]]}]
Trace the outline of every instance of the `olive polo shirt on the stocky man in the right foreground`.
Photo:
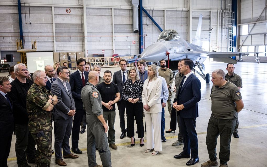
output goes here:
[{"label": "olive polo shirt on the stocky man in the right foreground", "polygon": [[221,88],[213,85],[210,97],[212,116],[217,119],[233,119],[237,116],[234,101],[242,99],[242,96],[238,87],[233,83],[227,80]]}]

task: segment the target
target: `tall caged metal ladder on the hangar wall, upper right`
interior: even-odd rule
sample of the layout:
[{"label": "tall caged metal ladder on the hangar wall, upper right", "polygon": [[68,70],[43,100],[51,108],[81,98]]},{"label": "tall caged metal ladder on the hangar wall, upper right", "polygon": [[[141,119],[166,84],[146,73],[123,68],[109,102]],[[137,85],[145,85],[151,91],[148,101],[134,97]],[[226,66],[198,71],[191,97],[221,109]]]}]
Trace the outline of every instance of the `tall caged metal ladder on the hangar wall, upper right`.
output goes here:
[{"label": "tall caged metal ladder on the hangar wall, upper right", "polygon": [[233,52],[233,22],[234,12],[232,11],[232,0],[225,1],[226,13],[225,13],[225,28],[228,28],[228,52]]}]

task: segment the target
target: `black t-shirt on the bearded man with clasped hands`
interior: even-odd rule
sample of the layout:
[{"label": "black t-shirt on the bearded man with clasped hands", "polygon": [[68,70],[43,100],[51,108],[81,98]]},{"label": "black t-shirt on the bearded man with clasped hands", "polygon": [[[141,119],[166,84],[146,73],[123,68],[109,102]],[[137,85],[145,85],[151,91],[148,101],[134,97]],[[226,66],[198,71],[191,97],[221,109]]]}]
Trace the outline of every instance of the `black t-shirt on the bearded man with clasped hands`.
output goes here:
[{"label": "black t-shirt on the bearded man with clasped hands", "polygon": [[[110,83],[106,84],[105,82],[97,85],[97,90],[100,92],[102,101],[108,103],[110,100],[115,100],[116,93],[119,93],[119,89],[116,84]],[[112,104],[112,109],[109,110],[105,106],[102,105],[103,111],[115,111],[115,104]]]}]

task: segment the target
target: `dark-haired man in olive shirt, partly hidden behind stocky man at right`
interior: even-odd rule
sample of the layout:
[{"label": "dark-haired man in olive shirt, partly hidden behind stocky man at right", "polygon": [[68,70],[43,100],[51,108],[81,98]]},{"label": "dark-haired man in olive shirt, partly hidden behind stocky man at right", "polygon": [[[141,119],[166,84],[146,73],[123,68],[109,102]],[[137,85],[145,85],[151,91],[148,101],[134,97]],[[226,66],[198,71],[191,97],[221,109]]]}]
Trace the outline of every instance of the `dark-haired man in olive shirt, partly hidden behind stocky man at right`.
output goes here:
[{"label": "dark-haired man in olive shirt, partly hidden behind stocky man at right", "polygon": [[[238,87],[238,89],[240,90],[242,88],[242,79],[239,75],[237,75],[236,73],[234,73],[234,64],[233,63],[228,63],[226,65],[226,70],[228,71],[227,74],[225,75],[225,79],[228,79],[229,82],[235,84],[235,86]],[[239,126],[239,122],[238,122],[238,117],[237,117],[237,123],[235,126],[235,130],[233,133],[234,138],[239,138],[238,136],[238,128]]]}]

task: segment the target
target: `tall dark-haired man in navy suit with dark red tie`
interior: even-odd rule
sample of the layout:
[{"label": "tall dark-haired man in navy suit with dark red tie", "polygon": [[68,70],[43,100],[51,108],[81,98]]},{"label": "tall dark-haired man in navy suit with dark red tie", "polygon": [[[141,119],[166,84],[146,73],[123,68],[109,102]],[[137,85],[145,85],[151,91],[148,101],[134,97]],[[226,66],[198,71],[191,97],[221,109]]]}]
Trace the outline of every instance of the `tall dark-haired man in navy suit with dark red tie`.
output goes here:
[{"label": "tall dark-haired man in navy suit with dark red tie", "polygon": [[83,115],[85,115],[85,111],[83,109],[83,101],[81,100],[81,90],[85,86],[88,81],[88,72],[85,71],[85,60],[78,59],[77,60],[77,68],[78,70],[70,75],[69,84],[71,87],[71,93],[74,98],[76,113],[73,119],[72,126],[72,152],[76,154],[81,154],[81,150],[78,149],[79,143],[79,134],[80,134],[80,126],[83,119]]}]

